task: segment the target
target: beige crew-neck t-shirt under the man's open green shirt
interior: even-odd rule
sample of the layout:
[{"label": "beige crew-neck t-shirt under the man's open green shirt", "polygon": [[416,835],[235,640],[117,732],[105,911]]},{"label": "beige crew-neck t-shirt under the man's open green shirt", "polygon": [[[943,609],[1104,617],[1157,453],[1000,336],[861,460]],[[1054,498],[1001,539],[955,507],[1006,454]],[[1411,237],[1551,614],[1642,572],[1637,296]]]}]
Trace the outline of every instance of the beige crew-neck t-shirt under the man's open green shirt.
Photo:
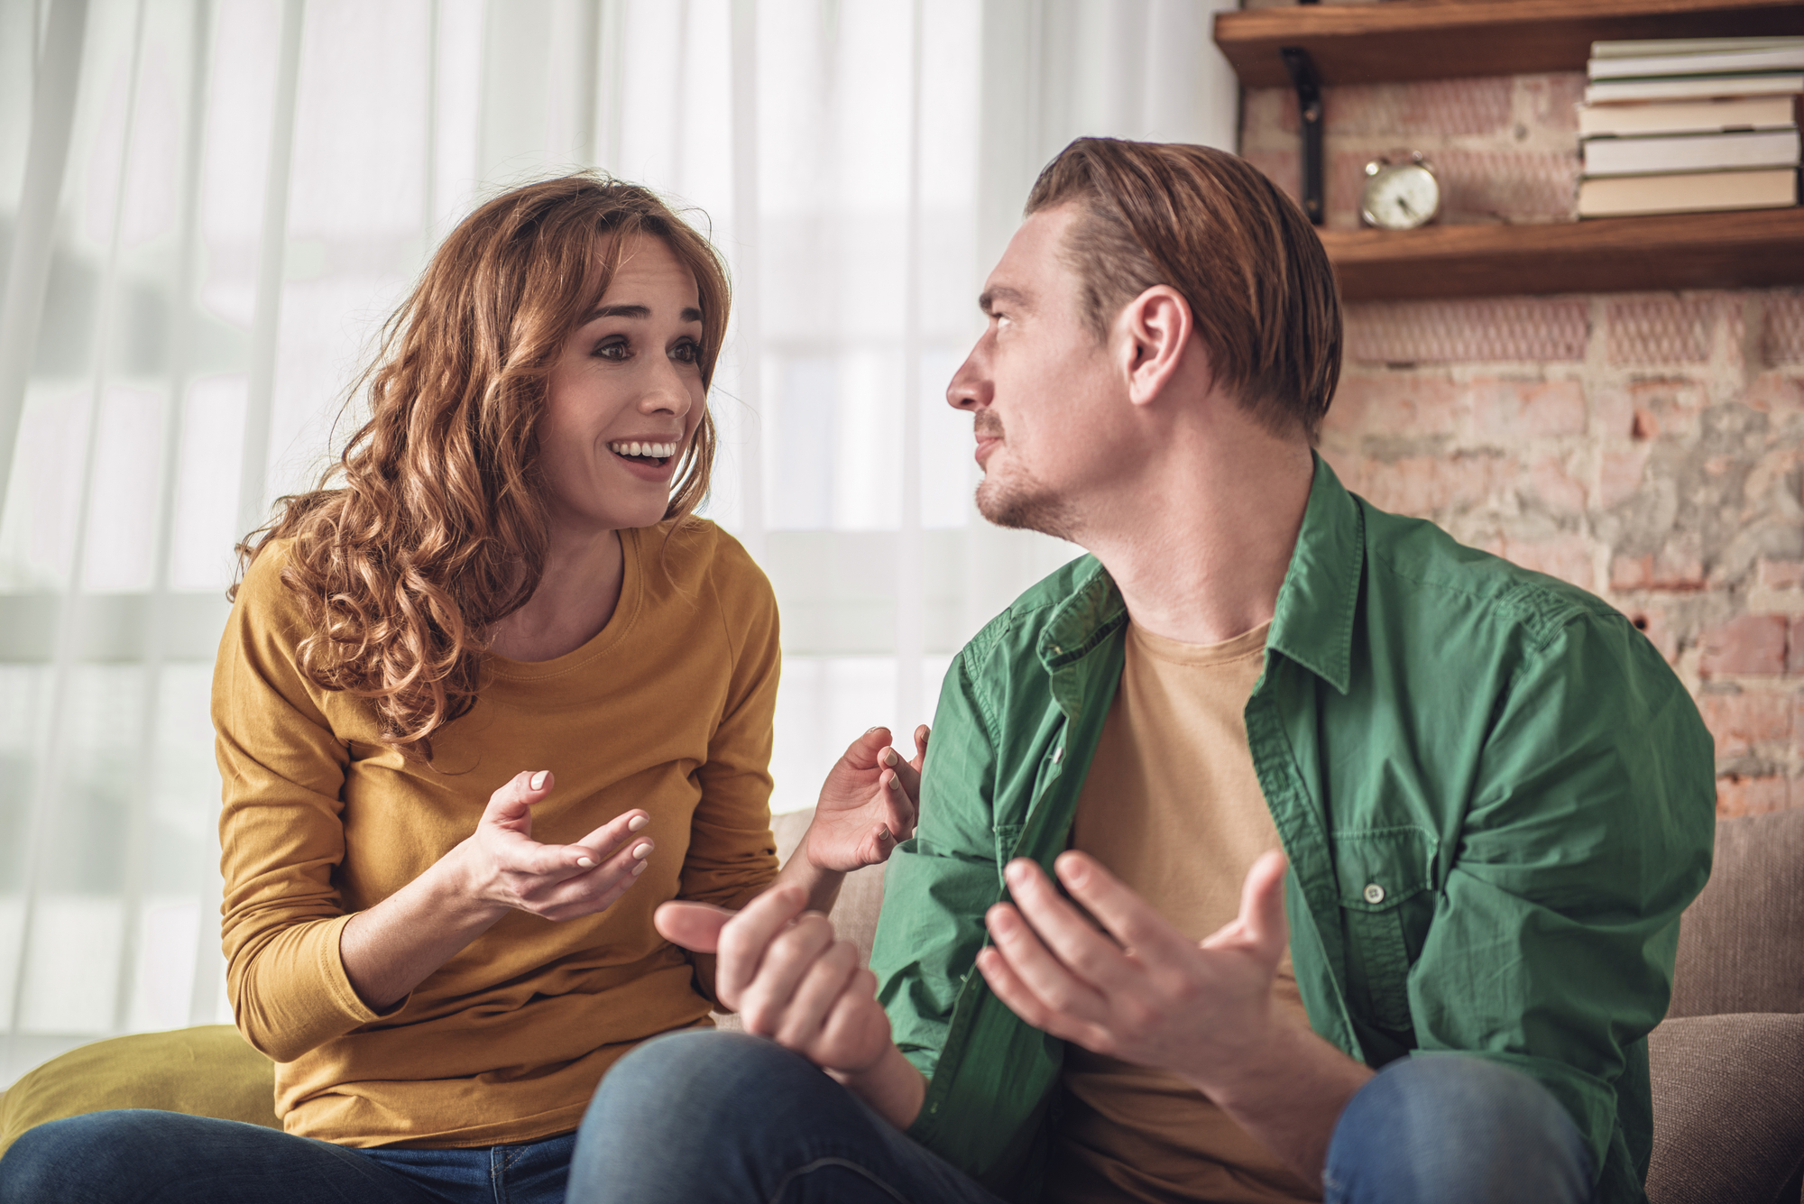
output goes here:
[{"label": "beige crew-neck t-shirt under the man's open green shirt", "polygon": [[[1277,849],[1243,712],[1270,624],[1225,643],[1128,627],[1128,661],[1084,779],[1072,847],[1192,941],[1239,914],[1247,871]],[[1302,1011],[1290,955],[1277,1006]],[[1066,1045],[1050,1204],[1319,1199],[1227,1112],[1167,1071]]]}]

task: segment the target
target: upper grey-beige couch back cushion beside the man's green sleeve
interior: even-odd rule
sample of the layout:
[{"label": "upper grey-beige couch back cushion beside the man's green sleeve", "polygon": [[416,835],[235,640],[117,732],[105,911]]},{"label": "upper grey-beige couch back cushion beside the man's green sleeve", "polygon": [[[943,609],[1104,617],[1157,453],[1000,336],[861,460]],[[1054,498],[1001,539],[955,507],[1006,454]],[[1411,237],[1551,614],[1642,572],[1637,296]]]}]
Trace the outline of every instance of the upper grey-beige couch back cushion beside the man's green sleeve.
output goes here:
[{"label": "upper grey-beige couch back cushion beside the man's green sleeve", "polygon": [[1667,1017],[1804,1011],[1804,809],[1717,820]]}]

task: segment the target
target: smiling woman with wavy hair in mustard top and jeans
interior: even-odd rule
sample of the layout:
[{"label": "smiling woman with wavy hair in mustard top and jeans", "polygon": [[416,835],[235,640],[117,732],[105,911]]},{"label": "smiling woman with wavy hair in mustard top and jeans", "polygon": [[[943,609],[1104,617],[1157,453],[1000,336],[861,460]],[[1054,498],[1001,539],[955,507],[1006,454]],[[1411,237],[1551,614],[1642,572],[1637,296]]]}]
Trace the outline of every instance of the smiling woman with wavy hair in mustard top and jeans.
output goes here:
[{"label": "smiling woman with wavy hair in mustard top and jeans", "polygon": [[640,187],[534,184],[446,240],[337,479],[240,548],[220,645],[227,984],[287,1132],[60,1121],[22,1199],[559,1200],[608,1065],[707,1024],[657,905],[824,910],[909,835],[873,730],[778,874],[776,602],[691,515],[725,324]]}]

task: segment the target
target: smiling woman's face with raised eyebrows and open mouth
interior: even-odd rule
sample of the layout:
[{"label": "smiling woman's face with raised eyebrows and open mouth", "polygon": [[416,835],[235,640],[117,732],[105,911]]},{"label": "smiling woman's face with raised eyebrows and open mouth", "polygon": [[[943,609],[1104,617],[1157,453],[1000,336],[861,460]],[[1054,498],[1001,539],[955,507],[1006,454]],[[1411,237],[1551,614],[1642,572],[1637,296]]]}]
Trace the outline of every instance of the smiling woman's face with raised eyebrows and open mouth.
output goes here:
[{"label": "smiling woman's face with raised eyebrows and open mouth", "polygon": [[552,368],[539,418],[552,528],[658,523],[705,398],[695,274],[662,238],[635,238]]}]

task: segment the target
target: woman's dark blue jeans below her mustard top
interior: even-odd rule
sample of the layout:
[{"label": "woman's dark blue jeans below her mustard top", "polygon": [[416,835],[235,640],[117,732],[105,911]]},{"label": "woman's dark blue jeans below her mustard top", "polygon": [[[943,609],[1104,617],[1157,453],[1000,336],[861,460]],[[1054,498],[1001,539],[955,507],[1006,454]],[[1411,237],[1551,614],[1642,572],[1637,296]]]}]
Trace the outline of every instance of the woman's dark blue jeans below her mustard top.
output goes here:
[{"label": "woman's dark blue jeans below her mustard top", "polygon": [[144,1108],[40,1125],[0,1159],[13,1204],[561,1204],[575,1134],[476,1150],[352,1150]]}]

